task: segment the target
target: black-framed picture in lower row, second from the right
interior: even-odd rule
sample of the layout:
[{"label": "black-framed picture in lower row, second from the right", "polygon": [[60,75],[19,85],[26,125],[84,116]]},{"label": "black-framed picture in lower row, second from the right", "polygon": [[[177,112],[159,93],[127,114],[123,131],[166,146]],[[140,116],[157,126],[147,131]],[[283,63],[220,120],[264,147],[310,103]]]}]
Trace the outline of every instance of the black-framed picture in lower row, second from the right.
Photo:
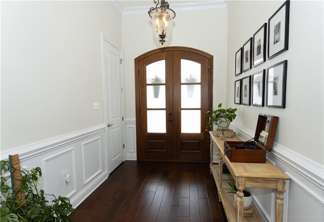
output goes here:
[{"label": "black-framed picture in lower row, second from the right", "polygon": [[265,69],[252,75],[251,105],[264,106]]}]

